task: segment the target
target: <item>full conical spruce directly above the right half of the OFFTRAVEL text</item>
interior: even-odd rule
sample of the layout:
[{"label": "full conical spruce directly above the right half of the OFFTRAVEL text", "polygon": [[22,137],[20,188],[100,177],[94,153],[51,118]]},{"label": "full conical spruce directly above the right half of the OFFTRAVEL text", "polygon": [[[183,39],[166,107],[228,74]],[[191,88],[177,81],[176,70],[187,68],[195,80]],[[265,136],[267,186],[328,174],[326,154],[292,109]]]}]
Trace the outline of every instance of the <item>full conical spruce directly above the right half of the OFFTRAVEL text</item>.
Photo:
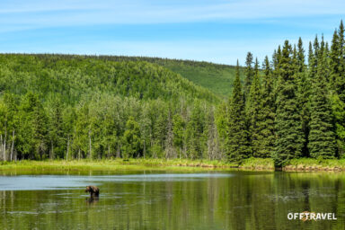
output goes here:
[{"label": "full conical spruce directly above the right half of the OFFTRAVEL text", "polygon": [[311,121],[308,148],[314,158],[332,158],[336,151],[332,106],[328,98],[326,77],[327,54],[324,43],[318,51],[318,66],[311,101]]}]

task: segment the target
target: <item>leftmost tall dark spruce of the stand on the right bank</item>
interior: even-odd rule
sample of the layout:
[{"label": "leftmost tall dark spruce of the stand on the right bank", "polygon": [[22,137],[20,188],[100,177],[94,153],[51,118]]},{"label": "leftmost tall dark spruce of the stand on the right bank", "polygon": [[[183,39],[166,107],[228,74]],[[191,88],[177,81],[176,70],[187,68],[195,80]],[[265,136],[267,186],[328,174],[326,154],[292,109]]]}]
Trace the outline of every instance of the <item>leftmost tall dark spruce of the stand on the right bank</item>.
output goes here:
[{"label": "leftmost tall dark spruce of the stand on the right bank", "polygon": [[237,61],[234,90],[229,100],[226,152],[229,161],[241,163],[250,155],[248,131],[245,124],[244,99],[240,81],[240,68]]}]

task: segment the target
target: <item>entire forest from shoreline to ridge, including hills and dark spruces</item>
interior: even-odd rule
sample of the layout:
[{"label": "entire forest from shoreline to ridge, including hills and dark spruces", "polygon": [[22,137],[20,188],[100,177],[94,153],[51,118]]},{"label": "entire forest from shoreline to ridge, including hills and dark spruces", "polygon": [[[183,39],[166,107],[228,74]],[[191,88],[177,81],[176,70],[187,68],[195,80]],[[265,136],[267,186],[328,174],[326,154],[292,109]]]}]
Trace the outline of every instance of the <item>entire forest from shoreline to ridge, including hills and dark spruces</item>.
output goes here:
[{"label": "entire forest from shoreline to ridge, including hills and dark spruces", "polygon": [[[179,66],[188,69],[178,73]],[[193,67],[214,73],[198,84],[202,71],[191,71],[194,84],[183,77]],[[227,91],[212,84],[221,71]],[[235,68],[149,57],[2,54],[0,93],[4,161],[272,157],[282,166],[299,157],[345,156],[342,22],[330,45],[315,37],[307,55],[301,39],[286,40],[271,60],[260,64],[248,53],[245,66]]]}]

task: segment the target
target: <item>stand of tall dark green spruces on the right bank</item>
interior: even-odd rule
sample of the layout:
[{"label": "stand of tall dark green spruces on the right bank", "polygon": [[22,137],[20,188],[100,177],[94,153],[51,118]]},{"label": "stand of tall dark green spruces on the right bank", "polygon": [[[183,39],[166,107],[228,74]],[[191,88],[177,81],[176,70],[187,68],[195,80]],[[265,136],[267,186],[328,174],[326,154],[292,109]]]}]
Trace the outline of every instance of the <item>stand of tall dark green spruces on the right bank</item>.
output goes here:
[{"label": "stand of tall dark green spruces on the right bank", "polygon": [[307,62],[302,40],[296,45],[286,40],[271,61],[265,58],[261,70],[248,53],[244,83],[237,74],[233,94],[222,105],[218,129],[228,159],[272,157],[282,166],[298,157],[343,157],[343,23],[334,31],[331,46],[317,36],[309,43]]}]

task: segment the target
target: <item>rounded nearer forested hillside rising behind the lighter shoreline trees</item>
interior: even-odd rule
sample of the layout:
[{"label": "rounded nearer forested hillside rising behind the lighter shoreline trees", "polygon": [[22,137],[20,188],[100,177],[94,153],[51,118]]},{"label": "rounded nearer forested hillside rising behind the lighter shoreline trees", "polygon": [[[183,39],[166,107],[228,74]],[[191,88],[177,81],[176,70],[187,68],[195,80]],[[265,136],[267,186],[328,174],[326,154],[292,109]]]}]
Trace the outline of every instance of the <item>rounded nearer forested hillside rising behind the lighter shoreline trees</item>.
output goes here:
[{"label": "rounded nearer forested hillside rising behind the lighter shoreline trees", "polygon": [[[123,60],[123,59],[122,59]],[[217,101],[207,89],[172,71],[145,61],[61,55],[0,55],[0,92],[48,96],[78,102],[97,93],[140,100],[189,98]]]}]

